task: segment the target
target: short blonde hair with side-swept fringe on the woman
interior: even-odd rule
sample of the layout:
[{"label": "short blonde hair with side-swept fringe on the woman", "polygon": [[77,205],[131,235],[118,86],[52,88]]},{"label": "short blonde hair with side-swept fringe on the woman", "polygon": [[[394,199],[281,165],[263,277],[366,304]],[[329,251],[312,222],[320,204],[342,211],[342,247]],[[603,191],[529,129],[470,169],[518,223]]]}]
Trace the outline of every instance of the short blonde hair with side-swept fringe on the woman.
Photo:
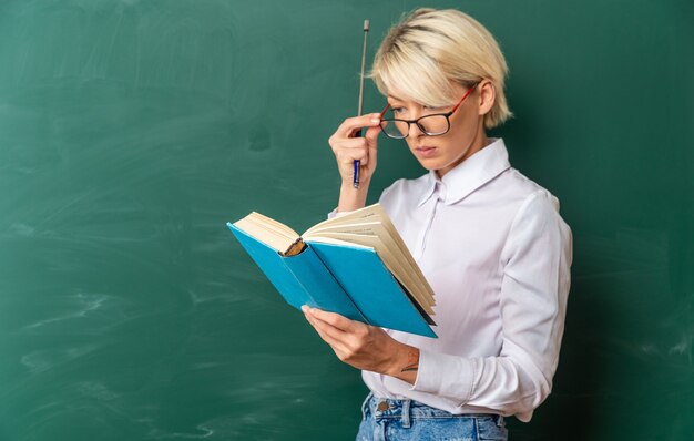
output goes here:
[{"label": "short blonde hair with side-swept fringe on the woman", "polygon": [[369,76],[384,95],[446,106],[455,104],[451,82],[469,88],[482,79],[496,91],[484,126],[492,129],[512,114],[503,85],[508,66],[492,34],[477,20],[455,9],[417,9],[384,39]]}]

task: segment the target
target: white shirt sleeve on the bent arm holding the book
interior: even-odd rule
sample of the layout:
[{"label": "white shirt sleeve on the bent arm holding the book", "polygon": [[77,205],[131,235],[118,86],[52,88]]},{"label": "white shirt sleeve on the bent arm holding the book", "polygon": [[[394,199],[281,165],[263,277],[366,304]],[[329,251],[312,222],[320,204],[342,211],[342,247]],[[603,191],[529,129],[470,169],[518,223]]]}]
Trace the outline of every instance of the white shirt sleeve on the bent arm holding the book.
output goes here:
[{"label": "white shirt sleeve on the bent arm holding the book", "polygon": [[519,208],[503,249],[498,357],[466,358],[421,349],[411,390],[467,408],[494,409],[529,421],[551,391],[570,286],[571,230],[547,191]]}]

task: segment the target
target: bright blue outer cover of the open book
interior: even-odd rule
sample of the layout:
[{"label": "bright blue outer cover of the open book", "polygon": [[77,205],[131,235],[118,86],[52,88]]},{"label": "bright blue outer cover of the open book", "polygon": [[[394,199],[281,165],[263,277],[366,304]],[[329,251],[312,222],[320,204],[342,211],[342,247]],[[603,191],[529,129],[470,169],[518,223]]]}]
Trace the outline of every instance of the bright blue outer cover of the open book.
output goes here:
[{"label": "bright blue outer cover of the open book", "polygon": [[285,257],[232,223],[227,226],[293,307],[308,305],[351,320],[437,337],[374,249],[308,242],[302,253]]}]

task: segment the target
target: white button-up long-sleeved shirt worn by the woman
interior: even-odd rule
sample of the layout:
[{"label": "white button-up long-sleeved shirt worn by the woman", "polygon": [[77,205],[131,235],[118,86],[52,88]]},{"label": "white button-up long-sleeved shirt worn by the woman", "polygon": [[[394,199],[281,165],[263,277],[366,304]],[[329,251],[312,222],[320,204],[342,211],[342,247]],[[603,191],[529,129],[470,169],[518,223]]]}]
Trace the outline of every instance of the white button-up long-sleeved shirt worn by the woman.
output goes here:
[{"label": "white button-up long-sleeved shirt worn by the woman", "polygon": [[530,421],[559,360],[572,256],[559,202],[509,164],[501,139],[442,180],[399,180],[380,197],[436,294],[438,339],[389,330],[420,349],[415,384],[364,371],[375,396],[451,413]]}]

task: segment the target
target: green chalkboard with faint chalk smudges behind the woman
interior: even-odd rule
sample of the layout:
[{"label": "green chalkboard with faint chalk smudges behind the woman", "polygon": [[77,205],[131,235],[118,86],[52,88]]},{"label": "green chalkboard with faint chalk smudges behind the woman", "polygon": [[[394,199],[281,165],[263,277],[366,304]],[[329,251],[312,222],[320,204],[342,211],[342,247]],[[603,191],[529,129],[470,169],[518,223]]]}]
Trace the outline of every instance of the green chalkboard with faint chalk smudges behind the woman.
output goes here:
[{"label": "green chalkboard with faint chalk smudges behind the woman", "polygon": [[[692,2],[428,4],[497,35],[516,119],[491,134],[574,233],[554,391],[512,439],[691,440]],[[334,207],[363,21],[372,58],[415,7],[0,2],[0,440],[354,438],[358,372],[225,222]],[[379,152],[370,201],[422,173]]]}]

